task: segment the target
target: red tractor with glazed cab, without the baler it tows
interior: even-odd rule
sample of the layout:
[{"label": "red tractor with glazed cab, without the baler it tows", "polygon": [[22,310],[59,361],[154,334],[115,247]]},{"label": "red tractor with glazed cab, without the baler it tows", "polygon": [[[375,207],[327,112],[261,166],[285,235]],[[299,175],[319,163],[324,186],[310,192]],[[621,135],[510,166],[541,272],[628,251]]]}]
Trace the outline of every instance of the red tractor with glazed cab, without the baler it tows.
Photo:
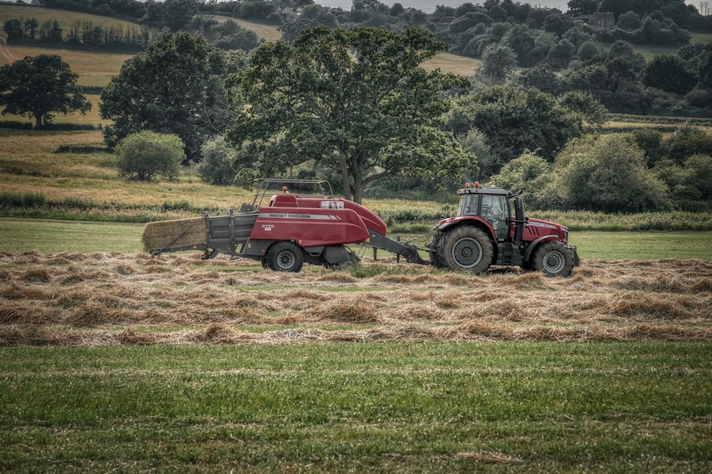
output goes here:
[{"label": "red tractor with glazed cab, without the baler it tows", "polygon": [[428,251],[435,267],[482,273],[491,265],[518,265],[566,277],[579,265],[568,229],[525,216],[520,194],[478,183],[457,193],[457,215],[433,228]]}]

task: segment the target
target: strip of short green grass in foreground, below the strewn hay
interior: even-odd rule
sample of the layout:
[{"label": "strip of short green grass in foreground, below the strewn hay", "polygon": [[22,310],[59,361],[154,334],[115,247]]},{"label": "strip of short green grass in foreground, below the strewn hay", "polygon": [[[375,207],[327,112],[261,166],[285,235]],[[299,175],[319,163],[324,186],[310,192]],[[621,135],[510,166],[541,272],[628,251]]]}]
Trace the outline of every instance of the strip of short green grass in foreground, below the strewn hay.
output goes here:
[{"label": "strip of short green grass in foreground, below the strewn hay", "polygon": [[708,343],[1,349],[0,468],[706,472]]}]

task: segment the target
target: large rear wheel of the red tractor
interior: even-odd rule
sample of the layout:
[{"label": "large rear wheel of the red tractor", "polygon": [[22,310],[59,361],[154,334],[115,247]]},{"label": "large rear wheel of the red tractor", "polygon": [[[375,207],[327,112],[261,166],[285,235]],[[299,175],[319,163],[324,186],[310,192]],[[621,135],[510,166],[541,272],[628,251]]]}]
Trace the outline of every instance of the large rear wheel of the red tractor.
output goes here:
[{"label": "large rear wheel of the red tractor", "polygon": [[473,226],[458,227],[443,237],[438,247],[438,260],[451,270],[468,270],[476,275],[492,265],[492,241]]}]

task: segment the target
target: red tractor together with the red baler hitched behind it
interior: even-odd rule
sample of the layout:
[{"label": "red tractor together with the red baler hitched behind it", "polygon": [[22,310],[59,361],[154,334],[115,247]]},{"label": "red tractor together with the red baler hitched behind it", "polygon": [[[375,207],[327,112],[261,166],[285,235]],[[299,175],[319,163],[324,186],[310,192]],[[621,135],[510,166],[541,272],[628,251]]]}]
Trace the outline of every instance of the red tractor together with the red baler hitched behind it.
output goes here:
[{"label": "red tractor together with the red baler hitched behind it", "polygon": [[[568,229],[525,216],[519,194],[479,184],[466,185],[458,194],[456,216],[434,226],[426,248],[387,237],[385,223],[374,212],[335,198],[328,181],[282,179],[259,179],[253,203],[243,204],[238,213],[148,223],[142,240],[152,255],[199,250],[203,258],[214,258],[226,253],[288,272],[298,272],[305,262],[335,268],[358,261],[347,244],[472,273],[516,265],[567,277],[579,264],[576,248],[568,245]],[[419,251],[429,253],[430,261]]]}]

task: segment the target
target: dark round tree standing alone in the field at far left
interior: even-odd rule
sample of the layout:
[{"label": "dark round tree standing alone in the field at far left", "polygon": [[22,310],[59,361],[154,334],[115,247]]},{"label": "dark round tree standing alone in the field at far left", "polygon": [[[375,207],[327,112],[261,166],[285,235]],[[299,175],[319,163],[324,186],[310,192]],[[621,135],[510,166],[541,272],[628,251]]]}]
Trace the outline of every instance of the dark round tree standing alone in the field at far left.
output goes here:
[{"label": "dark round tree standing alone in the field at far left", "polygon": [[51,112],[85,114],[91,102],[77,85],[79,75],[56,54],[26,56],[0,68],[0,106],[3,115],[35,118],[35,127],[51,122]]}]

